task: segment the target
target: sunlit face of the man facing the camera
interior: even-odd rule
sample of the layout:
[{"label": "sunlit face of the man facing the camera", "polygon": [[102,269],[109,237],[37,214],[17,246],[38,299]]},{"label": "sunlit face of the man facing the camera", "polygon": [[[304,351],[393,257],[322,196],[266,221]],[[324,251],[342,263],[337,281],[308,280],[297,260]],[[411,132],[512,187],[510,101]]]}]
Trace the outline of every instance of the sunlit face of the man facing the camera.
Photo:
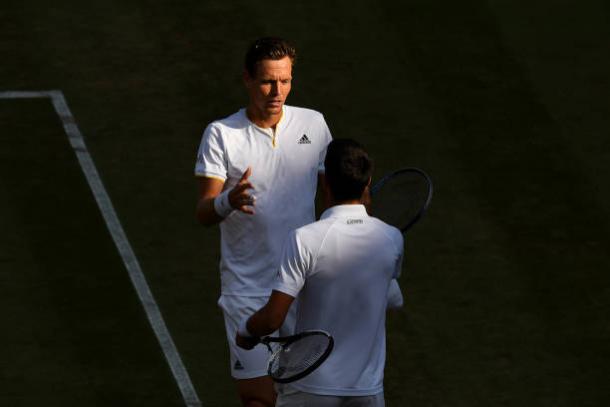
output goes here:
[{"label": "sunlit face of the man facing the camera", "polygon": [[291,81],[292,61],[289,57],[259,61],[253,77],[246,71],[244,82],[252,113],[261,119],[280,114],[290,93]]}]

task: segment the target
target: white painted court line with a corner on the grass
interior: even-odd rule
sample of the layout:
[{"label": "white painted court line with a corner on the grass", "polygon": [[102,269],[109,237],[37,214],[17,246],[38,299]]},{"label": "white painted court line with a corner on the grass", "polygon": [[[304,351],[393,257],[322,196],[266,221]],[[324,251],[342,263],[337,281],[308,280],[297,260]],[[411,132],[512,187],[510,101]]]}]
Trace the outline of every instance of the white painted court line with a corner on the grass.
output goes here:
[{"label": "white painted court line with a corner on the grass", "polygon": [[114,244],[121,254],[121,258],[123,259],[123,263],[127,268],[131,282],[136,289],[138,298],[146,311],[148,321],[150,322],[150,325],[157,336],[157,340],[163,349],[163,354],[165,355],[165,359],[170,366],[174,379],[180,388],[184,402],[186,403],[187,407],[201,407],[201,402],[199,401],[199,397],[195,392],[193,383],[191,382],[188,372],[182,363],[182,359],[180,358],[180,354],[176,349],[176,345],[174,344],[167,326],[165,325],[165,321],[163,320],[159,306],[157,305],[152,292],[150,291],[146,278],[144,277],[140,264],[138,263],[138,259],[136,258],[129,241],[127,240],[127,235],[119,222],[119,218],[117,217],[114,207],[112,206],[110,197],[102,184],[102,180],[98,175],[95,164],[93,163],[93,159],[89,155],[89,151],[85,145],[85,140],[83,139],[80,130],[76,126],[76,121],[68,108],[68,104],[66,103],[63,93],[59,90],[0,92],[0,99],[29,99],[45,97],[51,98],[53,107],[63,123],[66,135],[70,140],[70,144],[74,149],[78,162],[80,163],[85,177],[87,178],[89,187],[91,188],[93,196],[97,201],[97,205],[102,212],[104,220],[106,221],[106,226],[112,235]]}]

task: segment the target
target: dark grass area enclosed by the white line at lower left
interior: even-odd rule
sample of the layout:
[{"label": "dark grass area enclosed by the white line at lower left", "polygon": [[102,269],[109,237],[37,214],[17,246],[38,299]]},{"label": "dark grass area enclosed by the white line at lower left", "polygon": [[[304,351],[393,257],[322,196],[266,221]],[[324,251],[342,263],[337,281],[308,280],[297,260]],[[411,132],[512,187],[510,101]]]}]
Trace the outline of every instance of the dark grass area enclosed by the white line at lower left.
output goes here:
[{"label": "dark grass area enclosed by the white line at lower left", "polygon": [[50,101],[0,122],[2,404],[182,405]]}]

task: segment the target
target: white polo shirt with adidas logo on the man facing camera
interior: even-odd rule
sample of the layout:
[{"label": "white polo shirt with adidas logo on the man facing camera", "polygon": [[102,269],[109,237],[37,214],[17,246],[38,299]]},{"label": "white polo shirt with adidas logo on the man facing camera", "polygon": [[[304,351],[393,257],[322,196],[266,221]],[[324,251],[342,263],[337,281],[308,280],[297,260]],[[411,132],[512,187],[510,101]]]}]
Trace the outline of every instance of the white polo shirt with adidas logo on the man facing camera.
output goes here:
[{"label": "white polo shirt with adidas logo on the man facing camera", "polygon": [[331,141],[324,117],[284,106],[276,130],[256,126],[245,109],[203,133],[195,175],[233,188],[248,167],[256,196],[255,215],[233,211],[220,223],[221,283],[226,295],[271,293],[288,234],[315,220],[318,172]]}]

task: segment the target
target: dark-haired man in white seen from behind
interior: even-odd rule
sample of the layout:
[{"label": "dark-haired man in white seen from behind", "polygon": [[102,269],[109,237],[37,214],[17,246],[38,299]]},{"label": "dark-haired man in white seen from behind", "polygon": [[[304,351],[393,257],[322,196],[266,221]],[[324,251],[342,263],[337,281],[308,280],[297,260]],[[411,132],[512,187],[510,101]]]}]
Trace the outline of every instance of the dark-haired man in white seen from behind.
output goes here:
[{"label": "dark-haired man in white seen from behind", "polygon": [[335,345],[313,373],[278,387],[276,406],[382,407],[386,295],[402,267],[403,238],[362,205],[372,170],[362,146],[332,141],[325,169],[332,206],[291,233],[271,297],[242,320],[236,342],[256,349],[298,297],[295,332],[321,329]]}]

